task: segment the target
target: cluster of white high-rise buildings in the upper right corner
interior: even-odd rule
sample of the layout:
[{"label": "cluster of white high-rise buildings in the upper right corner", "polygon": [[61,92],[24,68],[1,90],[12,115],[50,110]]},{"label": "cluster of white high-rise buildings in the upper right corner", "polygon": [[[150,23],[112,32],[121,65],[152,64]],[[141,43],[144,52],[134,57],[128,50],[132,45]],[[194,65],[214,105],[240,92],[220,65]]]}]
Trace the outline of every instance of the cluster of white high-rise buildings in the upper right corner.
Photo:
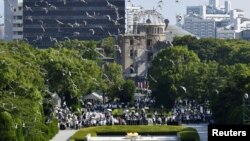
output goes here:
[{"label": "cluster of white high-rise buildings in the upper right corner", "polygon": [[200,38],[234,39],[250,29],[250,19],[244,17],[244,11],[232,10],[230,1],[220,7],[219,0],[210,0],[209,5],[187,7],[183,28]]}]

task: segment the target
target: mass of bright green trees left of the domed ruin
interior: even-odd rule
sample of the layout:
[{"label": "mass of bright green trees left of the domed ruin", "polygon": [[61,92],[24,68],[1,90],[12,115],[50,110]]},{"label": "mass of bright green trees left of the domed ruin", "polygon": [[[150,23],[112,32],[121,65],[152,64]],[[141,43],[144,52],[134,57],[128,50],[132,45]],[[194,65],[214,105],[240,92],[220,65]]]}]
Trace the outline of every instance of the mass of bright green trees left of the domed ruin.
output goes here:
[{"label": "mass of bright green trees left of the domed ruin", "polygon": [[120,66],[100,67],[97,45],[73,40],[39,50],[22,41],[0,41],[0,112],[11,117],[11,128],[3,126],[1,131],[6,129],[13,140],[47,141],[58,132],[55,95],[77,111],[90,92],[113,93],[115,86],[122,86]]}]

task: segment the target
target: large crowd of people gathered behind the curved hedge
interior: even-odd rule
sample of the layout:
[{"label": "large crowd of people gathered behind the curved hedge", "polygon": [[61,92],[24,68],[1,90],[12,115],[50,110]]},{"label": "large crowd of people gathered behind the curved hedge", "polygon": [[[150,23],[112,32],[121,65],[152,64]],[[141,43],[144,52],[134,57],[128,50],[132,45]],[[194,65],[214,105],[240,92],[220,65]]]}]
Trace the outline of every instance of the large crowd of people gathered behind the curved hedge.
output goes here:
[{"label": "large crowd of people gathered behind the curved hedge", "polygon": [[[79,129],[102,125],[172,125],[188,123],[208,123],[211,112],[207,104],[199,105],[195,101],[178,100],[170,115],[161,111],[152,111],[154,100],[136,100],[133,107],[129,104],[108,102],[105,105],[96,101],[85,101],[82,109],[72,113],[66,104],[57,106],[56,116],[59,127],[64,129]],[[112,109],[122,110],[122,114],[112,114]],[[150,111],[150,112],[149,112]]]}]

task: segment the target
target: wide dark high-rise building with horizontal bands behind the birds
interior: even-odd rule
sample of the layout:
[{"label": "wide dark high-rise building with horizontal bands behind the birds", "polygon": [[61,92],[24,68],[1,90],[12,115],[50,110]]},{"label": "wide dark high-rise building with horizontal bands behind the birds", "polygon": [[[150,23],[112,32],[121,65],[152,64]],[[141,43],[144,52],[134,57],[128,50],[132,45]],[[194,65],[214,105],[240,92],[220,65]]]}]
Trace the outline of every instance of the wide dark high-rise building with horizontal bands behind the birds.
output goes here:
[{"label": "wide dark high-rise building with horizontal bands behind the birds", "polygon": [[40,48],[125,32],[125,0],[24,0],[24,39]]}]

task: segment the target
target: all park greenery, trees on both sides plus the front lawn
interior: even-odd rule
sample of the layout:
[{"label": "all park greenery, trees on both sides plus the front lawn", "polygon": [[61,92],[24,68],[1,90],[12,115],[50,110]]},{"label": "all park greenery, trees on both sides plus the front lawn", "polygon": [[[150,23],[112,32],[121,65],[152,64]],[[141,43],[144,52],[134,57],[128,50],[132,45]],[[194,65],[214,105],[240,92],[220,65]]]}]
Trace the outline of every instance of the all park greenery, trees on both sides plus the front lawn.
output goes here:
[{"label": "all park greenery, trees on both sides plus the front lawn", "polygon": [[[214,123],[244,124],[244,117],[249,117],[244,108],[249,101],[243,96],[250,93],[250,43],[184,36],[176,37],[173,45],[151,60],[147,79],[152,90],[150,99],[156,101],[151,107],[168,116],[177,100],[190,99],[207,105]],[[94,91],[101,91],[110,101],[119,99],[120,103],[129,103],[128,108],[133,107],[134,81],[123,77],[121,65],[103,62],[96,51],[103,48],[106,56],[112,57],[113,47],[112,38],[63,41],[47,49],[24,41],[0,41],[1,139],[50,140],[58,132],[55,97],[77,116],[82,114],[82,98]],[[122,110],[114,110],[113,114],[121,115]],[[96,134],[102,128],[119,126],[81,129],[73,137],[84,138],[83,131]],[[189,131],[181,132],[184,127],[133,129],[142,133],[153,132],[149,130],[154,128],[155,132],[189,136]],[[130,131],[126,129],[119,131]]]}]

